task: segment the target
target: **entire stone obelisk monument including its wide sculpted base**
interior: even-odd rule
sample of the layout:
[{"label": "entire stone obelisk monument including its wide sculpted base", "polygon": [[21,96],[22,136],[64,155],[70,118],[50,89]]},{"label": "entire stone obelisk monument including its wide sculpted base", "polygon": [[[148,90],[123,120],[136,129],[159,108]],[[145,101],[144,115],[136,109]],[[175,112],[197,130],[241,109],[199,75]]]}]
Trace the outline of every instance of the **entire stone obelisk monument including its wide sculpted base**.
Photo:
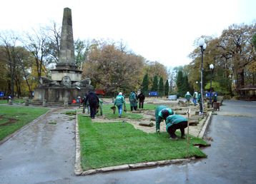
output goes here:
[{"label": "entire stone obelisk monument including its wide sculpted base", "polygon": [[51,70],[51,78],[41,76],[39,86],[34,88],[34,102],[71,104],[78,96],[84,96],[94,88],[89,78],[82,79],[82,71],[74,59],[74,39],[71,9],[65,8],[59,51],[59,61]]}]

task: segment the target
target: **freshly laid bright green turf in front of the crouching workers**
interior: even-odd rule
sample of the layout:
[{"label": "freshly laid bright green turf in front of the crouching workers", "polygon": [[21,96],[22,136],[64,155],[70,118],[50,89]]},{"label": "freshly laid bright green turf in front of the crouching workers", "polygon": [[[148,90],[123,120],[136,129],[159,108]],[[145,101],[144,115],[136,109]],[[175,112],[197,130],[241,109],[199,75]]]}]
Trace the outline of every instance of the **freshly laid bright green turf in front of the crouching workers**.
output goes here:
[{"label": "freshly laid bright green turf in front of the crouching workers", "polygon": [[[187,156],[187,140],[169,140],[167,133],[144,133],[129,123],[92,123],[84,116],[78,119],[83,170]],[[189,157],[205,158],[207,155],[193,144],[207,143],[190,138]]]}]

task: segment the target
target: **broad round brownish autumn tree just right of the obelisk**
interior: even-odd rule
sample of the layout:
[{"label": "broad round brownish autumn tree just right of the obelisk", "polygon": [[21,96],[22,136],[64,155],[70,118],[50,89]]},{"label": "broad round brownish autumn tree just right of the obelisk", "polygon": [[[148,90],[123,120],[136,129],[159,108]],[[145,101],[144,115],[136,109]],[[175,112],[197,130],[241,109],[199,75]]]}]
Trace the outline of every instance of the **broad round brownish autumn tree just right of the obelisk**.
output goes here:
[{"label": "broad round brownish autumn tree just right of the obelisk", "polygon": [[109,94],[129,93],[141,85],[143,66],[141,56],[121,51],[114,44],[99,44],[88,53],[83,77],[91,78],[96,88]]}]

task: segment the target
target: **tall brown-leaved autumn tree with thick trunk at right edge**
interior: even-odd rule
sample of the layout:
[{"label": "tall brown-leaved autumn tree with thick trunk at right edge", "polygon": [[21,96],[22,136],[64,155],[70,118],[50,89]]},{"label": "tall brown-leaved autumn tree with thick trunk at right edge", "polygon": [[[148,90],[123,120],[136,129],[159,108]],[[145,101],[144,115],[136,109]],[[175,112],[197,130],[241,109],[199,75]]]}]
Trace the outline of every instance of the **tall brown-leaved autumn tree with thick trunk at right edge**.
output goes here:
[{"label": "tall brown-leaved autumn tree with thick trunk at right edge", "polygon": [[253,34],[256,32],[254,25],[232,25],[222,31],[217,47],[222,56],[229,56],[232,62],[232,74],[235,79],[236,91],[245,86],[245,68],[255,62],[255,50],[252,44]]}]

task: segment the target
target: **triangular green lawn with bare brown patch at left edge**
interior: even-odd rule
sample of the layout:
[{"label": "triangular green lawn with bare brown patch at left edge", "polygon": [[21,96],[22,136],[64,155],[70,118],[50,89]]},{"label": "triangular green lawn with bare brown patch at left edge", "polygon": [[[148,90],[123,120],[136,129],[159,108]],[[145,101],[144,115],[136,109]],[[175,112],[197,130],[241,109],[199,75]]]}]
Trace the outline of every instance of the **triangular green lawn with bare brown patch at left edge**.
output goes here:
[{"label": "triangular green lawn with bare brown patch at left edge", "polygon": [[48,111],[48,108],[0,106],[0,140]]}]

